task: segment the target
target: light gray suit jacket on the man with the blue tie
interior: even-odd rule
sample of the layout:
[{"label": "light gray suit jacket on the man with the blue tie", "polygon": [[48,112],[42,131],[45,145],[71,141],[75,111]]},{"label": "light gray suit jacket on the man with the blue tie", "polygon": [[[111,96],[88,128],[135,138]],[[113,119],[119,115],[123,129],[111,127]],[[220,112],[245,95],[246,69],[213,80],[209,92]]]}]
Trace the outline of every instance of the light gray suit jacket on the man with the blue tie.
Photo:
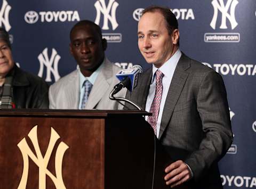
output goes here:
[{"label": "light gray suit jacket on the man with the blue tie", "polygon": [[[97,79],[92,87],[85,109],[117,110],[123,105],[109,99],[109,93],[119,83],[116,73],[121,70],[109,60],[105,60]],[[122,89],[116,96],[124,97],[126,89]],[[78,109],[79,105],[79,72],[75,70],[62,77],[50,86],[50,109]]]}]

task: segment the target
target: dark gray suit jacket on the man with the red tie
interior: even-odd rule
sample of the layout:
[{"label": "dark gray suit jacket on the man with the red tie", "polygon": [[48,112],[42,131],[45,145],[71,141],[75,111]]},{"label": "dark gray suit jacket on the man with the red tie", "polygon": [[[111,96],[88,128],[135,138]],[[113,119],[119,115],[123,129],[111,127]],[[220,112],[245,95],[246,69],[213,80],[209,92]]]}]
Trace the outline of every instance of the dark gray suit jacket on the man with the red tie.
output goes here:
[{"label": "dark gray suit jacket on the man with the red tie", "polygon": [[[151,77],[152,68],[126,94],[143,109]],[[167,94],[158,139],[173,160],[182,159],[192,169],[192,188],[222,188],[217,162],[233,141],[225,85],[217,72],[183,53]]]}]

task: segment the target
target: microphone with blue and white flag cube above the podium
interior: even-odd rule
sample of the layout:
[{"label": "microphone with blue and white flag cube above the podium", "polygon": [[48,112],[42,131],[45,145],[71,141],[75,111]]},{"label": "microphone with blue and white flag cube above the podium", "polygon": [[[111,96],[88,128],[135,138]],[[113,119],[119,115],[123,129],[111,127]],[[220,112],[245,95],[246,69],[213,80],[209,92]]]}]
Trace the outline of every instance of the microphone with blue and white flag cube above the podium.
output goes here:
[{"label": "microphone with blue and white flag cube above the podium", "polygon": [[116,77],[121,82],[115,85],[113,95],[121,91],[124,87],[132,92],[138,84],[138,77],[140,73],[142,73],[142,67],[140,65],[133,65],[132,68],[124,69],[117,73]]}]

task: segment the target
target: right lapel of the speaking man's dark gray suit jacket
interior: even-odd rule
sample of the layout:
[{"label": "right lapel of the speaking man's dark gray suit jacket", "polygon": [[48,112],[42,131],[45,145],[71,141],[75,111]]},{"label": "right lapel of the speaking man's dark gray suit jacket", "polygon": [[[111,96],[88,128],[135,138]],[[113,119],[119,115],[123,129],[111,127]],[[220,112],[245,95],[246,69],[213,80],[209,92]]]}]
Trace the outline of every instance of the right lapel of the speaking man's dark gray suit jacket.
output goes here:
[{"label": "right lapel of the speaking man's dark gray suit jacket", "polygon": [[169,91],[166,97],[166,101],[164,104],[164,110],[162,114],[161,127],[159,130],[158,138],[161,139],[166,126],[169,124],[169,121],[172,117],[172,113],[175,105],[180,97],[183,86],[186,83],[187,77],[189,75],[186,70],[190,67],[189,58],[182,53],[180,60],[177,64],[177,67],[174,71],[171,85],[169,87]]}]

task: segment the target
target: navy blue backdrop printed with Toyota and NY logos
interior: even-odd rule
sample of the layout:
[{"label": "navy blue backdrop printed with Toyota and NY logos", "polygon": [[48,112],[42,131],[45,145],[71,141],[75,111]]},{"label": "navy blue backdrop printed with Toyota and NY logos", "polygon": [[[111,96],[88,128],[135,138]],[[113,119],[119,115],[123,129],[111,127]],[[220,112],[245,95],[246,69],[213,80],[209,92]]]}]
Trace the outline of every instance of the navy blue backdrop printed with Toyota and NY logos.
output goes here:
[{"label": "navy blue backdrop printed with Toyota and NY logos", "polygon": [[77,68],[69,31],[83,19],[101,27],[109,60],[124,69],[149,68],[137,45],[138,20],[149,5],[170,7],[179,21],[181,51],[222,75],[234,132],[219,163],[222,184],[255,188],[255,0],[0,0],[0,25],[11,35],[17,64],[52,84]]}]

